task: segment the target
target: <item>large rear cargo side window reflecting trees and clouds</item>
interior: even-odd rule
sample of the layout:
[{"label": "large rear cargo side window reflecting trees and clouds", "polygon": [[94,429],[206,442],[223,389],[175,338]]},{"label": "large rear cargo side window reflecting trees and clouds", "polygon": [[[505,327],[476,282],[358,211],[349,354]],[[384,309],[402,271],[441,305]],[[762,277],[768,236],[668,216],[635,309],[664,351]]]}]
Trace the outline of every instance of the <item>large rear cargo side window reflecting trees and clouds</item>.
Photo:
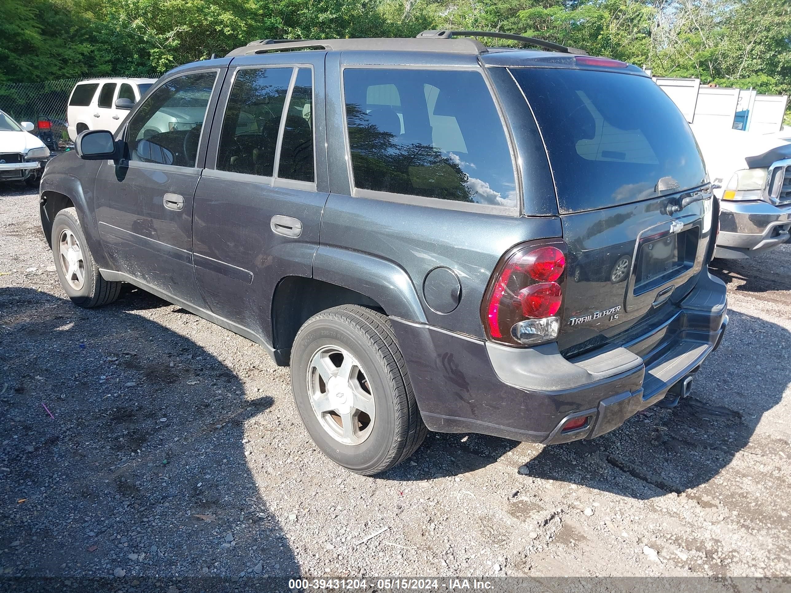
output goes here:
[{"label": "large rear cargo side window reflecting trees and clouds", "polygon": [[354,185],[516,206],[505,130],[474,70],[343,71]]}]

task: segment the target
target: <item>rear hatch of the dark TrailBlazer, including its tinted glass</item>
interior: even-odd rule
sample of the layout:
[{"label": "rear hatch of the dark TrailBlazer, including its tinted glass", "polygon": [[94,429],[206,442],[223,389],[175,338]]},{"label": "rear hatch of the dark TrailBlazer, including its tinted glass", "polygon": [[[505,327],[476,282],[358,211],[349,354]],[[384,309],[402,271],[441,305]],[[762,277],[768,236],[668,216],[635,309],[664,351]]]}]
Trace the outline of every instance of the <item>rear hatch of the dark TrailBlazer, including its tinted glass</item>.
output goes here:
[{"label": "rear hatch of the dark TrailBlazer, including its tinted glass", "polygon": [[574,60],[509,69],[536,117],[558,196],[566,356],[671,319],[703,269],[712,210],[698,145],[668,96],[621,62],[596,69]]}]

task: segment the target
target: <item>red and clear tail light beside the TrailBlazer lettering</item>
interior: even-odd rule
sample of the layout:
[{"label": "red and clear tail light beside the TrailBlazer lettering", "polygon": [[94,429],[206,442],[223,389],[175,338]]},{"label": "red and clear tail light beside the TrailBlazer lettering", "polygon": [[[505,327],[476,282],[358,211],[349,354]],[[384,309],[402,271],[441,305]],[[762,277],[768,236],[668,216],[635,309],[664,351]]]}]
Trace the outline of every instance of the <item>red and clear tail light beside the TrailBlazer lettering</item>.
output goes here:
[{"label": "red and clear tail light beside the TrailBlazer lettering", "polygon": [[498,264],[483,298],[486,336],[513,346],[558,337],[566,256],[562,241],[517,247]]}]

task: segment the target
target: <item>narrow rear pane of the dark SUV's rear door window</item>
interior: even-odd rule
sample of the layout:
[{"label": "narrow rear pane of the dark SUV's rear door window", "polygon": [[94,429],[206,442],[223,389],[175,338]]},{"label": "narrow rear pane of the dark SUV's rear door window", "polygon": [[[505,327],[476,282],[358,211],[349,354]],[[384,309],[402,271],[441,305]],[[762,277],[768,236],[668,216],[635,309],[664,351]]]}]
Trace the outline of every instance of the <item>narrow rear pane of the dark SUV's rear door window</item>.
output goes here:
[{"label": "narrow rear pane of the dark SUV's rear door window", "polygon": [[313,78],[310,68],[300,68],[294,81],[283,127],[278,177],[316,180],[313,173]]}]

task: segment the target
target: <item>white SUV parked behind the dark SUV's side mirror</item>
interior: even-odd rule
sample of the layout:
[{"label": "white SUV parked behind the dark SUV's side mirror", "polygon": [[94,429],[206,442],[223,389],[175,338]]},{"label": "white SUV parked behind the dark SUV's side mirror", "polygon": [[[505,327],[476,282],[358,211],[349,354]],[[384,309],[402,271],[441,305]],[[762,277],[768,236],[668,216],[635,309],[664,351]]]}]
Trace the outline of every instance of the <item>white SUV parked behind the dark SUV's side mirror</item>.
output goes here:
[{"label": "white SUV parked behind the dark SUV's side mirror", "polygon": [[156,81],[156,78],[92,78],[78,82],[71,91],[66,111],[69,138],[76,140],[85,130],[108,130],[115,134],[132,106]]}]

